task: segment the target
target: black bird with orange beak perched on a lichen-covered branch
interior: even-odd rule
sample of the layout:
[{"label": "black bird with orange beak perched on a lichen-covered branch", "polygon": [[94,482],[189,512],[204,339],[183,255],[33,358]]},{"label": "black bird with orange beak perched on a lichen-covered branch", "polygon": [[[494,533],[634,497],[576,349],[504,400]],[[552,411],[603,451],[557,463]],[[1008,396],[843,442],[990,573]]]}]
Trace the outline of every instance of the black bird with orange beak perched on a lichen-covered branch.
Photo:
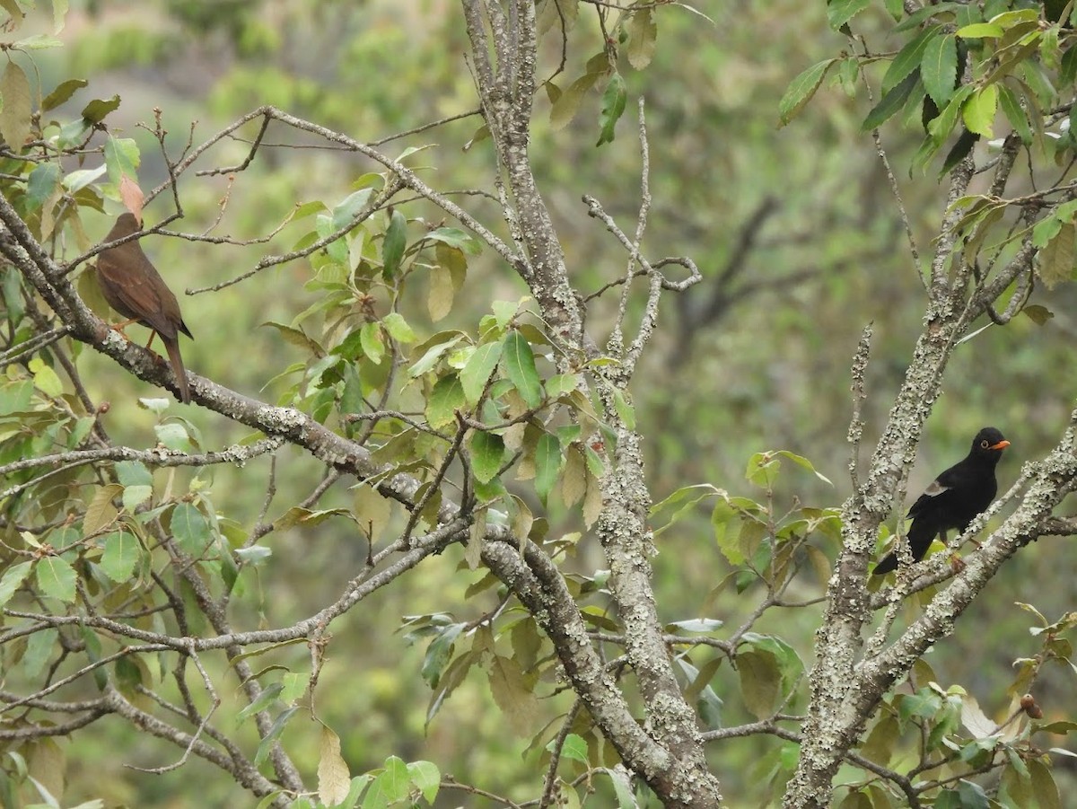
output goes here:
[{"label": "black bird with orange beak perched on a lichen-covered branch", "polygon": [[[938,536],[946,542],[946,532],[956,528],[964,533],[978,514],[987,511],[998,491],[995,465],[1009,442],[993,427],[985,427],[973,438],[973,448],[964,459],[935,478],[909,508],[909,549],[920,561]],[[897,569],[897,550],[885,556],[871,571],[873,575]]]}]

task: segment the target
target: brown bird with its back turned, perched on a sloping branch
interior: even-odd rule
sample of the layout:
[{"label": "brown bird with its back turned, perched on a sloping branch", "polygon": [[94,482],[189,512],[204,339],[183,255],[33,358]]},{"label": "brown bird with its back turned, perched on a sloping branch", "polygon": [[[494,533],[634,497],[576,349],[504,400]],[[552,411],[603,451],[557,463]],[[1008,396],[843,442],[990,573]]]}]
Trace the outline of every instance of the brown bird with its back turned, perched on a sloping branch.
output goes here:
[{"label": "brown bird with its back turned, perched on a sloping branch", "polygon": [[[121,213],[104,240],[115,241],[138,233],[139,229],[134,213]],[[153,330],[153,334],[160,335],[160,341],[165,344],[168,359],[172,363],[172,373],[180,389],[180,401],[190,404],[191,389],[187,387],[183,358],[180,357],[179,333],[183,332],[192,339],[194,337],[183,322],[176,295],[165,285],[164,279],[142,252],[138,240],[102,251],[97,256],[97,279],[109,306],[125,318],[130,318],[117,326],[118,331],[122,332],[124,326],[138,322]],[[153,334],[150,335],[146,348],[153,343]]]}]

